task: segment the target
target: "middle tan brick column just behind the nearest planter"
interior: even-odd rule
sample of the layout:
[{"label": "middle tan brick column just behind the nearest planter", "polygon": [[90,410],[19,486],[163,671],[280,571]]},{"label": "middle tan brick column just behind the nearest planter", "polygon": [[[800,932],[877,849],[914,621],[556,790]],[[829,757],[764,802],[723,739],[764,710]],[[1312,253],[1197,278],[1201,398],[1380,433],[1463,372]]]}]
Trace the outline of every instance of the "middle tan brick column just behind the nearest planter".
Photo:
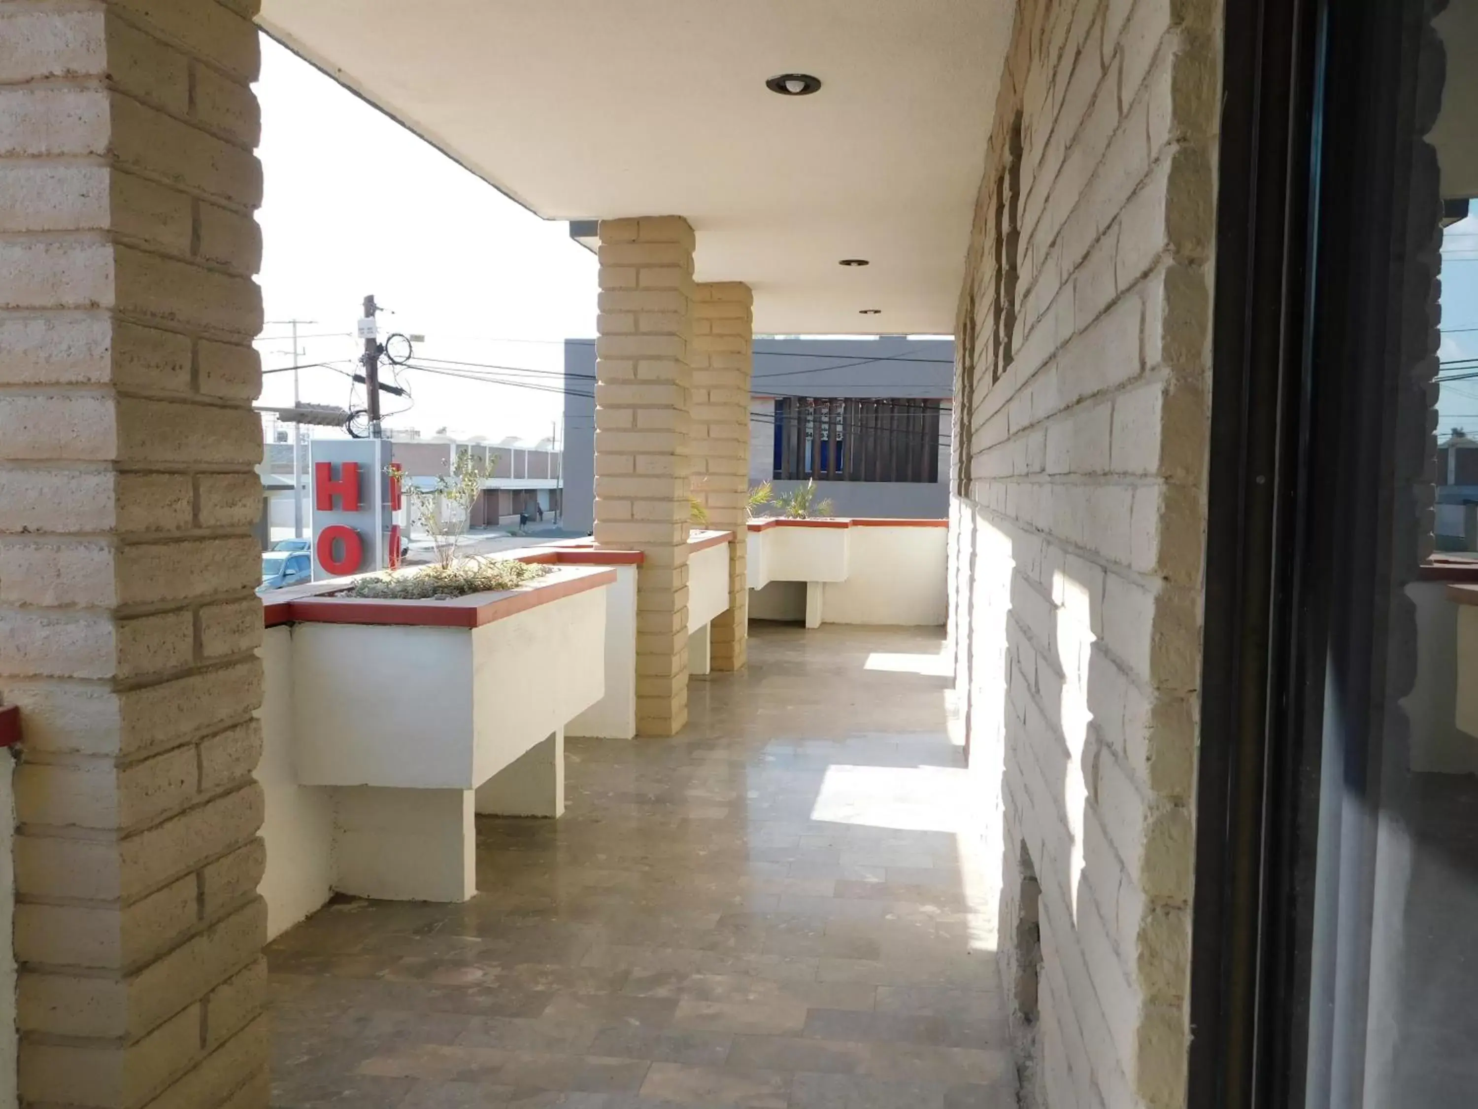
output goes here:
[{"label": "middle tan brick column just behind the nearest planter", "polygon": [[693,229],[602,220],[596,342],[596,543],[634,547],[637,733],[687,723],[689,347]]}]

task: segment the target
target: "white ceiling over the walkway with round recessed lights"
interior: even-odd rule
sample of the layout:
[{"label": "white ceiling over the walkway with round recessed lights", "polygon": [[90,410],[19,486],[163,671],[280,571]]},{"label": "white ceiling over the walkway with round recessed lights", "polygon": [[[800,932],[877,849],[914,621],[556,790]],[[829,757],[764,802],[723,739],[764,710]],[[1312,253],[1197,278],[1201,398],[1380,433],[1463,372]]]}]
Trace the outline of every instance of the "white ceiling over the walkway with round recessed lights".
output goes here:
[{"label": "white ceiling over the walkway with round recessed lights", "polygon": [[[760,333],[947,334],[1009,9],[263,0],[260,22],[547,219],[687,216],[698,279],[748,281]],[[820,92],[764,87],[791,71]]]}]

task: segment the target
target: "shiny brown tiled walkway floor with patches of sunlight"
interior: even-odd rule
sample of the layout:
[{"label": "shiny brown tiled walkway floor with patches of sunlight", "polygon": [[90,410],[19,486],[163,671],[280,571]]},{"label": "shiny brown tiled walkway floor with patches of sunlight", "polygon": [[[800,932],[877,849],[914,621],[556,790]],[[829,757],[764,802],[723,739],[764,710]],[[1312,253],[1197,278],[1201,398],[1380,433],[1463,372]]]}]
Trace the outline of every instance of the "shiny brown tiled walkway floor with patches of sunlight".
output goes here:
[{"label": "shiny brown tiled walkway floor with patches of sunlight", "polygon": [[480,819],[474,901],[275,942],[273,1105],[1015,1105],[939,634],[752,631],[680,738],[571,741],[563,819]]}]

